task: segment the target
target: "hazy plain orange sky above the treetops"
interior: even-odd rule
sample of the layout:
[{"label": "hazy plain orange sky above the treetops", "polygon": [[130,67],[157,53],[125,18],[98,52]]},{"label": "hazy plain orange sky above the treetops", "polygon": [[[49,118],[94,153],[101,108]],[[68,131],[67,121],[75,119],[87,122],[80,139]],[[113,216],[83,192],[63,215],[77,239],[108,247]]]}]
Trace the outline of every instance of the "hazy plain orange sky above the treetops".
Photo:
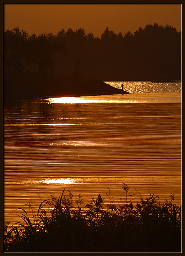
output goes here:
[{"label": "hazy plain orange sky above the treetops", "polygon": [[108,27],[116,34],[134,33],[146,24],[181,30],[181,4],[4,4],[4,30],[26,30],[28,35],[83,28],[101,37]]}]

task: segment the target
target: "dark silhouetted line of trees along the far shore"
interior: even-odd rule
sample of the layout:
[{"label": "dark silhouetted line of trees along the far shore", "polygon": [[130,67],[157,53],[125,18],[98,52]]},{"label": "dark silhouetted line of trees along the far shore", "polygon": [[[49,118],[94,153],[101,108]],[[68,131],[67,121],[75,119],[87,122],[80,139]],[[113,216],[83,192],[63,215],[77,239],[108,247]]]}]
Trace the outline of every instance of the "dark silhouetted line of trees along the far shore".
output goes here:
[{"label": "dark silhouetted line of trees along the far shore", "polygon": [[4,32],[4,72],[70,76],[75,60],[85,78],[152,80],[160,64],[181,63],[181,31],[147,24],[122,35],[107,27],[101,38],[84,29],[28,36],[19,27]]}]

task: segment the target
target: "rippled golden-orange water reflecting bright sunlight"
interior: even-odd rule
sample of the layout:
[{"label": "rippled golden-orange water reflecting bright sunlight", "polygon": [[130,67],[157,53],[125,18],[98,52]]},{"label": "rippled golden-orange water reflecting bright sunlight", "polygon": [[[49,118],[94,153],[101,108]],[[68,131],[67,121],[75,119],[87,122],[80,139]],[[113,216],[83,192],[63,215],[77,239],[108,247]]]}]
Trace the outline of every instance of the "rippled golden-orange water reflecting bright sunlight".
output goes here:
[{"label": "rippled golden-orange water reflecting bright sunlight", "polygon": [[108,188],[118,200],[122,182],[135,202],[137,191],[162,202],[173,192],[181,204],[181,83],[124,82],[124,89],[132,93],[4,103],[5,221],[65,186],[84,204],[96,193],[106,198]]}]

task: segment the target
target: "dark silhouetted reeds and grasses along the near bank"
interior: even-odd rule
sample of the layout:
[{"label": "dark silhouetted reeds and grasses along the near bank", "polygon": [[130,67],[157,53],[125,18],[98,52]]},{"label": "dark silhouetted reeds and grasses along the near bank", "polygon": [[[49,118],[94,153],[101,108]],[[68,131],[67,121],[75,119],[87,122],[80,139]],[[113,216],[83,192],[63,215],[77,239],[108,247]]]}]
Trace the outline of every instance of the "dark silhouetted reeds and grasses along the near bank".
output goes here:
[{"label": "dark silhouetted reeds and grasses along the near bank", "polygon": [[[22,223],[4,224],[4,252],[180,252],[181,207],[170,200],[160,202],[154,193],[135,206],[134,196],[123,183],[117,204],[111,191],[92,197],[85,207],[79,195],[65,189],[59,198],[44,200],[32,218],[21,208]],[[131,196],[131,197],[130,197]],[[9,231],[8,231],[9,230]]]}]

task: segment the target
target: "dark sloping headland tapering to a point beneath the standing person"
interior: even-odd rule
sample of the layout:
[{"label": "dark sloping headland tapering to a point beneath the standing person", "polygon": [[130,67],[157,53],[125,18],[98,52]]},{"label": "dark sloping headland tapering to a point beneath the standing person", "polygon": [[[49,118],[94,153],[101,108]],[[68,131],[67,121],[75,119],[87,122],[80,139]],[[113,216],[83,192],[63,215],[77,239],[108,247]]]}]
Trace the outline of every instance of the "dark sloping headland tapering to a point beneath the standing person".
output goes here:
[{"label": "dark sloping headland tapering to a point beneath the standing person", "polygon": [[125,94],[101,80],[39,75],[4,75],[4,100]]}]

